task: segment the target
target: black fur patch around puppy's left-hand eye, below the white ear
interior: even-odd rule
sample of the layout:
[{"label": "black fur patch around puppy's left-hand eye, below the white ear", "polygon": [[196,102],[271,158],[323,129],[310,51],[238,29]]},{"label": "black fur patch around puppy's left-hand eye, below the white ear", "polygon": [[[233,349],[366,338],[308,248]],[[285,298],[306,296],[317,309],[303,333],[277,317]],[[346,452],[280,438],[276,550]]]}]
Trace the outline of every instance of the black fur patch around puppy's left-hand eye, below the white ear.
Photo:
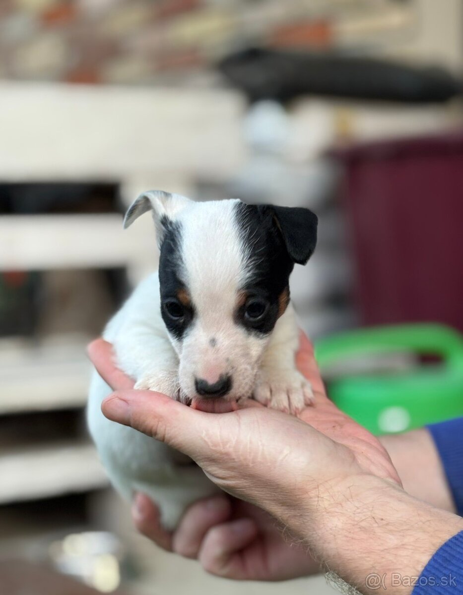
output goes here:
[{"label": "black fur patch around puppy's left-hand eye, below the white ear", "polygon": [[[179,300],[181,292],[186,290],[179,273],[182,268],[182,226],[178,222],[170,221],[167,217],[162,220],[165,234],[162,239],[159,254],[159,290],[161,293],[161,315],[169,333],[180,340],[190,327],[195,311],[192,305]],[[182,316],[173,317],[169,309],[172,303],[180,308]]]}]

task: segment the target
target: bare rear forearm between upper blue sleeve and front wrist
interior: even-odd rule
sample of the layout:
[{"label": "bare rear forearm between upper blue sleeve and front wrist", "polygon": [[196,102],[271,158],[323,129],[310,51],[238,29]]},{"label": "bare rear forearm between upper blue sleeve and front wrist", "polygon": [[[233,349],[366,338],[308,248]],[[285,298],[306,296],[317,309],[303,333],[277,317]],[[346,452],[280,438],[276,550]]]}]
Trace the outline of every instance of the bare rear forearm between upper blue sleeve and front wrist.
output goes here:
[{"label": "bare rear forearm between upper blue sleeve and front wrist", "polygon": [[406,492],[445,511],[455,503],[431,434],[426,428],[381,436]]}]

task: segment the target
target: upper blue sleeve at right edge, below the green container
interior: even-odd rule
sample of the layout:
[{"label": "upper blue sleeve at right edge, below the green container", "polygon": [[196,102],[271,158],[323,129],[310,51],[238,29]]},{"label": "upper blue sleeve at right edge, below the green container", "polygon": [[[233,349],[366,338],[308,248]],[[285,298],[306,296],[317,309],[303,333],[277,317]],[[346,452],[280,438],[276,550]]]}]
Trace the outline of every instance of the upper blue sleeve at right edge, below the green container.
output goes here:
[{"label": "upper blue sleeve at right edge, below the green container", "polygon": [[456,512],[463,516],[463,418],[428,425],[428,430],[442,460]]}]

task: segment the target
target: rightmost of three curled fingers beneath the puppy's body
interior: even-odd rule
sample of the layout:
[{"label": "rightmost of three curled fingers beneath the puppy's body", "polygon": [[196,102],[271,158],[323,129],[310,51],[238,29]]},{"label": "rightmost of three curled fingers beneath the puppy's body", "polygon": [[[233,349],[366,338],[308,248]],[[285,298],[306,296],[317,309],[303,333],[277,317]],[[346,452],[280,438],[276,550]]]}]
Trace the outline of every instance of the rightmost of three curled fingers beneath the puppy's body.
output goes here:
[{"label": "rightmost of three curled fingers beneath the puppy's body", "polygon": [[199,551],[205,570],[219,577],[246,578],[240,551],[255,540],[258,528],[250,518],[242,518],[213,527]]}]

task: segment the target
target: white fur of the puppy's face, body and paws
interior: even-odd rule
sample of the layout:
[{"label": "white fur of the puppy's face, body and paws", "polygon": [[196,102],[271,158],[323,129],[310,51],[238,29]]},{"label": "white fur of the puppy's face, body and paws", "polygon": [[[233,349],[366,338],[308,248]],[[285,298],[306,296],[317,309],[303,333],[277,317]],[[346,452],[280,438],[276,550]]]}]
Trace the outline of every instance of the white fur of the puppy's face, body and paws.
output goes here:
[{"label": "white fur of the puppy's face, body and paws", "polygon": [[[182,340],[170,336],[161,317],[159,278],[154,273],[136,287],[103,336],[137,388],[186,402],[196,394],[195,378],[214,383],[227,374],[233,377],[227,399],[254,394],[262,403],[296,412],[310,402],[312,392],[295,368],[298,328],[292,306],[267,337],[248,333],[233,318],[239,288],[252,259],[259,258],[246,253],[239,237],[233,218],[236,202],[196,203],[175,195],[153,199],[159,241],[163,216],[182,226],[180,274],[195,305],[195,324]],[[138,214],[148,208],[144,205]],[[147,494],[160,506],[164,527],[174,528],[190,503],[218,488],[184,455],[105,418],[101,402],[110,393],[95,372],[87,418],[102,463],[126,499],[137,491]]]}]

